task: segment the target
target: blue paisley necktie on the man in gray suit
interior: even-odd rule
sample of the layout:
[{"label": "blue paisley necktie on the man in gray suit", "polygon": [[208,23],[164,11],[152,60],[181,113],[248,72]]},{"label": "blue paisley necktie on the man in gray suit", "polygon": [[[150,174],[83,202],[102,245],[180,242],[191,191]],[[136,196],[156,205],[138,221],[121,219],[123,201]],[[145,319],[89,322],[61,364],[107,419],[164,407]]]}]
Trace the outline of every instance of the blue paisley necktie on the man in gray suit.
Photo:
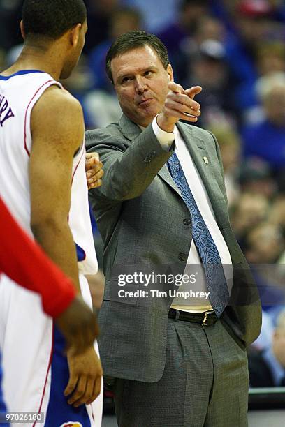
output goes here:
[{"label": "blue paisley necktie on the man in gray suit", "polygon": [[210,303],[220,317],[228,304],[229,294],[217,246],[198,209],[175,152],[168,159],[168,168],[191,213],[192,237],[203,263]]}]

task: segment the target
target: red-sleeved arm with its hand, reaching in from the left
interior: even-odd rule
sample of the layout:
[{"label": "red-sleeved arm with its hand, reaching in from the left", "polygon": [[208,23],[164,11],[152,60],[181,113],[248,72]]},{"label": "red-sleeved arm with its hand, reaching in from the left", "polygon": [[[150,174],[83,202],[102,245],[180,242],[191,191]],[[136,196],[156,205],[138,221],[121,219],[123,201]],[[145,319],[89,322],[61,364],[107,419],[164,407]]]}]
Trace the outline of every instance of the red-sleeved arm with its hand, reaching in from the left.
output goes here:
[{"label": "red-sleeved arm with its hand, reaching in from the left", "polygon": [[96,317],[56,267],[11,216],[0,198],[0,271],[28,290],[41,294],[43,310],[57,324],[74,352],[92,345]]}]

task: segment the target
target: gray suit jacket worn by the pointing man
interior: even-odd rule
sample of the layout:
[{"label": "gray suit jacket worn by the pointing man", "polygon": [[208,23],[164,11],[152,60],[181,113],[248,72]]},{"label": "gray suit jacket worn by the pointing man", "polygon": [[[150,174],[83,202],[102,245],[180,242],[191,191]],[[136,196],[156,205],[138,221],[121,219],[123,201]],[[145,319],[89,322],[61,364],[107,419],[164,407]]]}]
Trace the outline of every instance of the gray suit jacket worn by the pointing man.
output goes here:
[{"label": "gray suit jacket worn by the pointing man", "polygon": [[[205,130],[184,123],[177,126],[231,253],[233,290],[221,321],[244,347],[260,332],[261,306],[231,230],[219,146]],[[166,360],[168,310],[173,298],[120,298],[114,271],[149,268],[183,273],[191,245],[191,222],[184,221],[190,217],[189,210],[166,166],[171,152],[161,148],[152,125],[141,132],[123,115],[119,123],[87,132],[86,144],[90,151],[98,151],[105,170],[101,188],[89,193],[104,242],[105,294],[99,313],[103,369],[111,377],[156,382]],[[167,283],[162,286],[170,287]],[[124,287],[127,291],[142,289],[143,285],[135,283]]]}]

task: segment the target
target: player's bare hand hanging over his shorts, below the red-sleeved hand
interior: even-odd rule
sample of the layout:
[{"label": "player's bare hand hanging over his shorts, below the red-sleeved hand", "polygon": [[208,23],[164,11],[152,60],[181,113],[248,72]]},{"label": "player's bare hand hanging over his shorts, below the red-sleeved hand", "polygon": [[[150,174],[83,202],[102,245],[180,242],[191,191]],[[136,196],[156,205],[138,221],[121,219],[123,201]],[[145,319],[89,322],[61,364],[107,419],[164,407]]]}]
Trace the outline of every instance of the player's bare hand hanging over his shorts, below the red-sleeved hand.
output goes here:
[{"label": "player's bare hand hanging over his shorts, below the red-sleeved hand", "polygon": [[68,396],[69,405],[78,407],[89,405],[101,391],[103,370],[94,347],[89,347],[84,353],[74,356],[67,353],[69,381],[64,391]]}]

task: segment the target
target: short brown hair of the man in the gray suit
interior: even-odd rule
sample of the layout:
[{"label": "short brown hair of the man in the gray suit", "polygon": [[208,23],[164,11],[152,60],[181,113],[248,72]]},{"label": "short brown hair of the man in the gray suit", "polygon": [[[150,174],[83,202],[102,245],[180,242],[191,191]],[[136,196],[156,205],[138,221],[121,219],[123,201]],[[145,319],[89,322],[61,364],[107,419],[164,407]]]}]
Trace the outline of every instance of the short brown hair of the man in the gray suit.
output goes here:
[{"label": "short brown hair of the man in the gray suit", "polygon": [[163,67],[165,69],[167,68],[169,64],[168,52],[165,45],[163,45],[158,37],[154,36],[154,34],[146,33],[145,31],[129,31],[129,33],[124,33],[122,36],[119,36],[117,40],[112,43],[106,56],[106,73],[112,83],[114,83],[111,70],[112,59],[130,50],[144,46],[152,47],[161,60]]}]

